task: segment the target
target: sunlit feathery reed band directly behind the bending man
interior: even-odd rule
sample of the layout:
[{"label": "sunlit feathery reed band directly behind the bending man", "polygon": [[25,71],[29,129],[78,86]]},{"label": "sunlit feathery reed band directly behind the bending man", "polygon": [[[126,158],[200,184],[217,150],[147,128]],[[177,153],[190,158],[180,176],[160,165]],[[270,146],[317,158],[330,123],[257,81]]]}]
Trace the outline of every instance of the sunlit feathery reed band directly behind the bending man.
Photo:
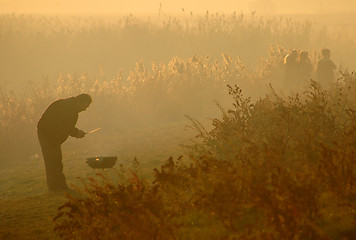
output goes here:
[{"label": "sunlit feathery reed band directly behind the bending man", "polygon": [[138,62],[127,79],[121,75],[111,80],[66,75],[53,82],[33,81],[21,94],[2,90],[0,164],[10,157],[16,161],[38,152],[36,124],[55,99],[82,92],[91,94],[95,101],[88,110],[90,116],[81,123],[87,128],[152,126],[184,120],[185,114],[214,117],[218,109],[213,101],[222,105],[229,102],[227,84],[239,83],[258,97],[266,92],[265,86],[272,79],[280,82],[278,72],[284,52],[282,47],[271,48],[273,57],[262,62],[258,71],[248,71],[239,58],[227,54],[222,55],[221,63],[217,61],[220,59],[195,55],[188,59],[176,57],[168,64],[152,64],[151,69]]}]

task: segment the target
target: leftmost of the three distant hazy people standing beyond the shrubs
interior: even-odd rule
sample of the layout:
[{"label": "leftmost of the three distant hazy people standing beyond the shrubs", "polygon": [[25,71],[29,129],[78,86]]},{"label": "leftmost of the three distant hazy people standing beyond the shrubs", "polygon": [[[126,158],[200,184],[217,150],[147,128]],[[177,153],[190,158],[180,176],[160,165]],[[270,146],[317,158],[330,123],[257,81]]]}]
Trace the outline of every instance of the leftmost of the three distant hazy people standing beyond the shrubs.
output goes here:
[{"label": "leftmost of the three distant hazy people standing beyond the shrubs", "polygon": [[284,87],[293,88],[298,84],[298,51],[292,50],[284,58]]}]

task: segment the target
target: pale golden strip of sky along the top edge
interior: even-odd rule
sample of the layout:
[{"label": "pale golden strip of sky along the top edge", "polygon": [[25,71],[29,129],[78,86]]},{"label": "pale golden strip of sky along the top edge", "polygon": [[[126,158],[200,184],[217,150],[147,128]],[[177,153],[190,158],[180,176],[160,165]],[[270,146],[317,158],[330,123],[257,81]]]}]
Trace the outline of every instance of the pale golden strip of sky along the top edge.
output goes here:
[{"label": "pale golden strip of sky along the top edge", "polygon": [[[337,3],[337,4],[336,4]],[[356,13],[356,0],[0,0],[1,13]]]}]

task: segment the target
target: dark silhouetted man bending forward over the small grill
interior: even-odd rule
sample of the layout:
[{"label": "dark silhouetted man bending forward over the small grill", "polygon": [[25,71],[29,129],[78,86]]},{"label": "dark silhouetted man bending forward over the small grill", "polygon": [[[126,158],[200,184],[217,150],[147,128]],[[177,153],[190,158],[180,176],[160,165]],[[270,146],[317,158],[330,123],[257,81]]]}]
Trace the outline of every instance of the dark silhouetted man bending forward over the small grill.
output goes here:
[{"label": "dark silhouetted man bending forward over the small grill", "polygon": [[46,167],[47,186],[50,191],[67,191],[63,174],[61,144],[69,136],[83,138],[85,132],[75,127],[78,113],[85,111],[92,99],[88,94],[59,99],[43,113],[37,124],[38,140]]}]

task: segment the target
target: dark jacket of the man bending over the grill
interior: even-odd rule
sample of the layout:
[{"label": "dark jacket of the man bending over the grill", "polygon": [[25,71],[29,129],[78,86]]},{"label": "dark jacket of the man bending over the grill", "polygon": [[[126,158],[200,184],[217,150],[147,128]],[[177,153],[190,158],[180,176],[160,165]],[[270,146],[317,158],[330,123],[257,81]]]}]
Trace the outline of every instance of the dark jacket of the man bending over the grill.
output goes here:
[{"label": "dark jacket of the man bending over the grill", "polygon": [[75,98],[59,99],[53,102],[42,114],[37,128],[52,144],[62,144],[69,136],[76,136],[78,128],[78,105]]}]

